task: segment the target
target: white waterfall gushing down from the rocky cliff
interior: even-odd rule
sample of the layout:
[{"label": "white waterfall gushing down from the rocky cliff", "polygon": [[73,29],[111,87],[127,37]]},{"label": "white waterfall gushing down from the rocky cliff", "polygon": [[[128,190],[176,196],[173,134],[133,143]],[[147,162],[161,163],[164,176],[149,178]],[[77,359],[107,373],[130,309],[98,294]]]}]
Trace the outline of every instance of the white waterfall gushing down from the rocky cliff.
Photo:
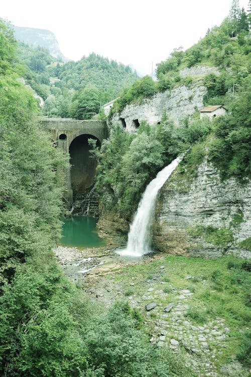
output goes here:
[{"label": "white waterfall gushing down from the rocky cliff", "polygon": [[172,171],[182,160],[177,157],[168,166],[164,167],[147,186],[143,194],[134,221],[130,225],[128,243],[126,249],[117,251],[120,255],[142,256],[151,252],[151,225],[153,222],[155,203],[157,195]]}]

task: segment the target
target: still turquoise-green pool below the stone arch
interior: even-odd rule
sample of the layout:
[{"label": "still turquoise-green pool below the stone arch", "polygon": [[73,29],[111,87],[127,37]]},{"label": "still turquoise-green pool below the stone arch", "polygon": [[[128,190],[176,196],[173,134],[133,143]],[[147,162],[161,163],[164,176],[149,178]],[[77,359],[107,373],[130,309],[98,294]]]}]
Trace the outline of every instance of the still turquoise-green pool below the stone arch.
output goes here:
[{"label": "still turquoise-green pool below the stone arch", "polygon": [[71,216],[63,220],[61,244],[72,247],[98,247],[105,244],[97,235],[97,219],[89,216]]}]

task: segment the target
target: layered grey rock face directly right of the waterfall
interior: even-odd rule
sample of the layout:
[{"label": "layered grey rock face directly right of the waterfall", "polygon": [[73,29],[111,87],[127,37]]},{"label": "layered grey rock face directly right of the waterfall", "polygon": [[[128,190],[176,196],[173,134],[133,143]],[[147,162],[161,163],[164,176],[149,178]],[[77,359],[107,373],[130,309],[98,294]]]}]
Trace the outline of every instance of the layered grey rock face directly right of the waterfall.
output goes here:
[{"label": "layered grey rock face directly right of the waterfall", "polygon": [[178,174],[179,166],[157,201],[154,247],[176,255],[251,257],[250,251],[239,246],[251,236],[251,182],[240,184],[234,178],[221,182],[206,159],[190,187]]}]

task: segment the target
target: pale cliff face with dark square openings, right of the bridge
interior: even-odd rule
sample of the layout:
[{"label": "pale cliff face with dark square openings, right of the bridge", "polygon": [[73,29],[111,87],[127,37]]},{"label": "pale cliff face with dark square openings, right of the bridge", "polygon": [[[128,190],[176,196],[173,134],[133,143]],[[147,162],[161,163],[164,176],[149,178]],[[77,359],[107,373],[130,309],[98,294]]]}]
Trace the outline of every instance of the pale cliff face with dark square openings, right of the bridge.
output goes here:
[{"label": "pale cliff face with dark square openings, right of the bridge", "polygon": [[152,99],[144,100],[141,105],[127,105],[119,115],[116,114],[111,119],[109,127],[120,123],[126,131],[135,132],[142,121],[151,125],[160,122],[164,111],[178,123],[203,107],[202,99],[205,93],[206,88],[202,82],[191,88],[183,85],[157,93]]}]

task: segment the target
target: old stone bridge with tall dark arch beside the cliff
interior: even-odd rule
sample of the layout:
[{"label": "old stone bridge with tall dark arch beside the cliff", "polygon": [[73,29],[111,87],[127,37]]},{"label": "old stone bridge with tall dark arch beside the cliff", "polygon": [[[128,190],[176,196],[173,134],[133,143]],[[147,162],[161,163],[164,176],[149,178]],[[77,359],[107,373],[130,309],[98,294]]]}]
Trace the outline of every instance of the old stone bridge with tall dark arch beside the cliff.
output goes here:
[{"label": "old stone bridge with tall dark arch beside the cliff", "polygon": [[72,206],[92,185],[97,162],[90,158],[88,139],[95,139],[98,146],[108,137],[105,121],[78,119],[41,119],[55,145],[70,155],[71,168],[65,171],[66,192],[64,199]]}]

